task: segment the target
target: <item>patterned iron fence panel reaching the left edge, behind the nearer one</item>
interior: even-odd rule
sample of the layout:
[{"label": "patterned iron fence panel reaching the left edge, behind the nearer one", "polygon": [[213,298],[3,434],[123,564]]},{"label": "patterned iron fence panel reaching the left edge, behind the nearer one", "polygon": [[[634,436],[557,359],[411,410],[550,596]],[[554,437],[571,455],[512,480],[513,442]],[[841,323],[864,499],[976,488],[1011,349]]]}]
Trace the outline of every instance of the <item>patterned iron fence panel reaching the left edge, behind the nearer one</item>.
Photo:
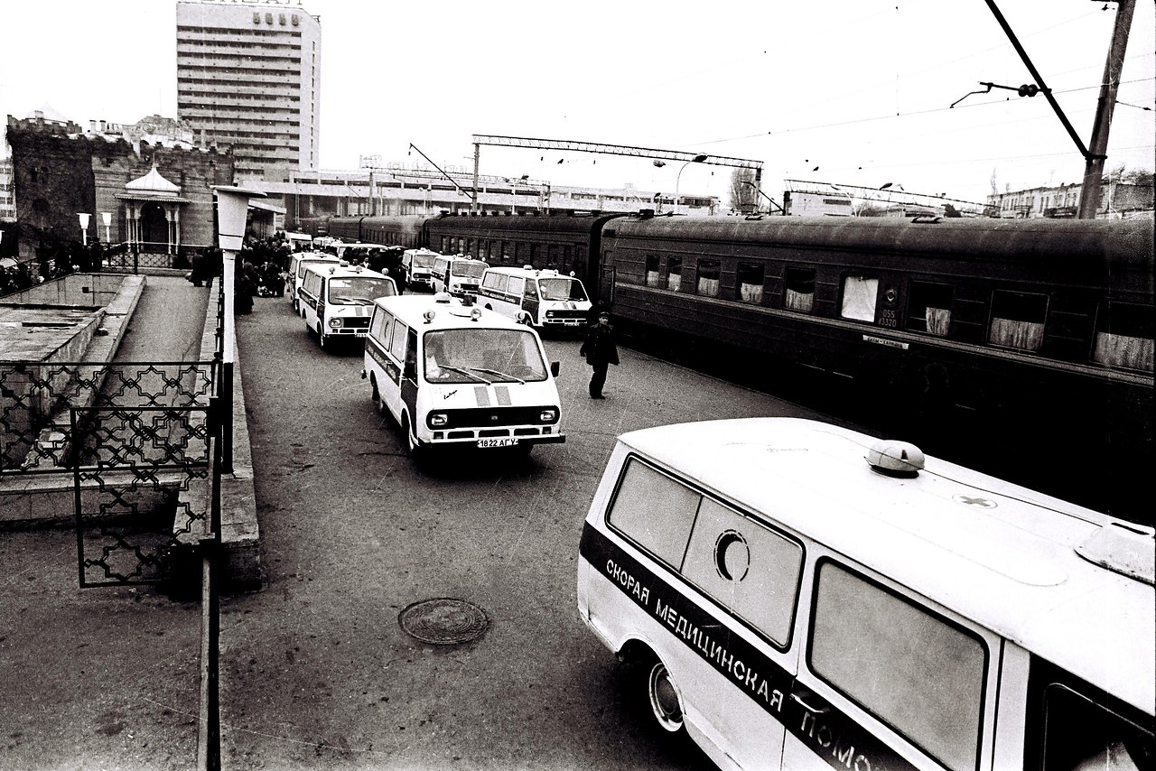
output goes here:
[{"label": "patterned iron fence panel reaching the left edge, behind the nearer one", "polygon": [[[216,362],[0,363],[0,474],[68,470],[72,453],[91,444],[84,432],[102,430],[102,410],[108,408],[205,407],[214,393],[217,366]],[[81,420],[74,422],[69,410],[79,410]]]}]

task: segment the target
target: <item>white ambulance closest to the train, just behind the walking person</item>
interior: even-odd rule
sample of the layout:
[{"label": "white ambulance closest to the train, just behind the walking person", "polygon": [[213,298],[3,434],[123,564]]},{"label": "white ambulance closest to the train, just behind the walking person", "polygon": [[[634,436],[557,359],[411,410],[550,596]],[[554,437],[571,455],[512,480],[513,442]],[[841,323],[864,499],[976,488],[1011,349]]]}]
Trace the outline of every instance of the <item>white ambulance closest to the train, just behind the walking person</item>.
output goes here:
[{"label": "white ambulance closest to the train, just behind the walking person", "polygon": [[591,309],[581,281],[531,267],[488,268],[477,288],[477,304],[538,329],[580,327]]}]

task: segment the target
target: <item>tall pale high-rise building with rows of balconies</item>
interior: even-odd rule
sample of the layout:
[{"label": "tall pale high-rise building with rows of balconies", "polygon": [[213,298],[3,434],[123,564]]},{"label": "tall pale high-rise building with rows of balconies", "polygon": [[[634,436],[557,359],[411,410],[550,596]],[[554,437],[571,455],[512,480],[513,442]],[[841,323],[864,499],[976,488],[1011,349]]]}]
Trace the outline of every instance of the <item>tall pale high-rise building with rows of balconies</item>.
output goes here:
[{"label": "tall pale high-rise building with rows of balconies", "polygon": [[316,169],[321,22],[298,3],[177,2],[177,118],[231,146],[238,179]]}]

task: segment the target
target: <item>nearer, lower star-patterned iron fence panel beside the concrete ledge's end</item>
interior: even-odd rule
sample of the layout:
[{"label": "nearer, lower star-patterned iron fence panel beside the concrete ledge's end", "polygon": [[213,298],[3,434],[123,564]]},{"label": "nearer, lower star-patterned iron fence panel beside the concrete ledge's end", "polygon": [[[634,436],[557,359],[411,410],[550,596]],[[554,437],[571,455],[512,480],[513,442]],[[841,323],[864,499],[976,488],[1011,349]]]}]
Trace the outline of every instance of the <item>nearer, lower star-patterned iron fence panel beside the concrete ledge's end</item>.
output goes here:
[{"label": "nearer, lower star-patterned iron fence panel beside the concrete ledge's end", "polygon": [[212,406],[69,409],[81,587],[160,583],[208,529]]}]

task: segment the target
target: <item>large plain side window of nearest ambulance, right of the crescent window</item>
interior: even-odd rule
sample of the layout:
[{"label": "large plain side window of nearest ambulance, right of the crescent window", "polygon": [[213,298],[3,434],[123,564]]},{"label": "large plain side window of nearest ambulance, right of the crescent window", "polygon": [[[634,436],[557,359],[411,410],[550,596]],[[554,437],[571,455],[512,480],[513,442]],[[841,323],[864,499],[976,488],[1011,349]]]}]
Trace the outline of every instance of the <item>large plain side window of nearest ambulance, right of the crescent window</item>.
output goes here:
[{"label": "large plain side window of nearest ambulance, right of the crescent window", "polygon": [[829,559],[818,566],[813,613],[812,672],[948,769],[976,769],[983,639]]}]

